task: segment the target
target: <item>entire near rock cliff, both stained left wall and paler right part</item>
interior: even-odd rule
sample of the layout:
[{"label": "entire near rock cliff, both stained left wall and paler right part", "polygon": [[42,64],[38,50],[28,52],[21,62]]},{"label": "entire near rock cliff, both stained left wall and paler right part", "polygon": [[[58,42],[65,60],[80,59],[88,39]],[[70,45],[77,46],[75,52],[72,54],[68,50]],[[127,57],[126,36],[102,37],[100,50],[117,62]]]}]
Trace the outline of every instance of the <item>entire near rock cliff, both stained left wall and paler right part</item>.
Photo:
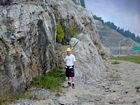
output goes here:
[{"label": "entire near rock cliff, both stained left wall and paler right part", "polygon": [[[19,3],[0,7],[0,96],[24,91],[34,77],[56,67],[57,23],[63,26],[63,43],[69,42],[77,59],[76,78],[101,79],[105,56],[92,14],[70,0]],[[77,34],[72,38],[70,25]],[[61,59],[61,58],[60,58]]]}]

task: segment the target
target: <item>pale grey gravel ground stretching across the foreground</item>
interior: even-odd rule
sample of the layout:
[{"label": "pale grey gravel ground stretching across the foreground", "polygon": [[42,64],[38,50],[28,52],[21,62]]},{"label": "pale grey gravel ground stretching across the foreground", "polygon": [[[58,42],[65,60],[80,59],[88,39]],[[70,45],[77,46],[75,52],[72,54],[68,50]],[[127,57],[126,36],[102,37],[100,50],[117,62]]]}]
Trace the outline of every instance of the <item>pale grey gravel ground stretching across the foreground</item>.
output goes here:
[{"label": "pale grey gravel ground stretching across the foreground", "polygon": [[32,89],[37,100],[20,99],[9,105],[140,105],[140,65],[111,62],[100,81],[82,84],[76,80],[75,89],[63,88],[63,93]]}]

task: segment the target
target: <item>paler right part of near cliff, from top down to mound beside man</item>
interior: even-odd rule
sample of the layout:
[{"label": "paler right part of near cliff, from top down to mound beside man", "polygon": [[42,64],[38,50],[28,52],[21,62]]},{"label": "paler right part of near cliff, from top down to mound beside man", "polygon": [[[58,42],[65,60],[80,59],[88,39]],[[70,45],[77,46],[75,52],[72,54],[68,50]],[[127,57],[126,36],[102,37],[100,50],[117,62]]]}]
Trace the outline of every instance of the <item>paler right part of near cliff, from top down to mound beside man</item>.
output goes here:
[{"label": "paler right part of near cliff, from top down to mound beside man", "polygon": [[[52,2],[48,3],[54,4]],[[70,40],[72,47],[76,44],[72,53],[77,59],[76,78],[78,82],[87,83],[101,79],[101,73],[105,69],[101,55],[106,56],[108,53],[103,50],[92,14],[70,1],[60,1],[57,4],[55,2],[55,5],[57,5],[55,7],[60,17],[59,21],[63,23],[65,40]],[[70,37],[69,32],[69,26],[72,24],[79,30],[74,38]]]}]

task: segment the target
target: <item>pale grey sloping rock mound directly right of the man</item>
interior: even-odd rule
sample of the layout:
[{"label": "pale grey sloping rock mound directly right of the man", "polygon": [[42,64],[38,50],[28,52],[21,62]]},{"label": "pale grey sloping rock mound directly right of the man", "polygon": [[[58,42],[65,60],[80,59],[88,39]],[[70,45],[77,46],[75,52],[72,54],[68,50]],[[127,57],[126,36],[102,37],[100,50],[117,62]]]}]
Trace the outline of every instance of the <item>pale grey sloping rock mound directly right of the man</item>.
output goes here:
[{"label": "pale grey sloping rock mound directly right of the man", "polygon": [[73,48],[73,54],[77,59],[76,78],[79,82],[89,84],[101,79],[101,73],[105,70],[101,56],[96,56],[98,51],[91,38],[90,34],[81,33],[77,39],[72,38],[70,40],[72,46],[79,41],[77,46]]}]

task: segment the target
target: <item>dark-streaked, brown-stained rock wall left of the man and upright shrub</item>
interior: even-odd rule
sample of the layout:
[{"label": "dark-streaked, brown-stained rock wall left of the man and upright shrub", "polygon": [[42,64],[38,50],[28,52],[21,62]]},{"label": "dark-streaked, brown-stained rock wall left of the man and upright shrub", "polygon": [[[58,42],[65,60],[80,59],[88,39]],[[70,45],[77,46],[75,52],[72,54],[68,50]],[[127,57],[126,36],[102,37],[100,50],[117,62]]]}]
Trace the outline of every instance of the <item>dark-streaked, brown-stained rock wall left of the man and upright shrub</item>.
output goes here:
[{"label": "dark-streaked, brown-stained rock wall left of the man and upright shrub", "polygon": [[56,67],[56,22],[46,4],[0,7],[0,19],[0,95],[7,95]]}]

